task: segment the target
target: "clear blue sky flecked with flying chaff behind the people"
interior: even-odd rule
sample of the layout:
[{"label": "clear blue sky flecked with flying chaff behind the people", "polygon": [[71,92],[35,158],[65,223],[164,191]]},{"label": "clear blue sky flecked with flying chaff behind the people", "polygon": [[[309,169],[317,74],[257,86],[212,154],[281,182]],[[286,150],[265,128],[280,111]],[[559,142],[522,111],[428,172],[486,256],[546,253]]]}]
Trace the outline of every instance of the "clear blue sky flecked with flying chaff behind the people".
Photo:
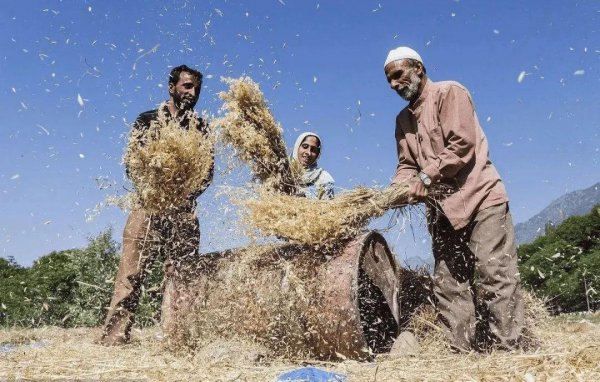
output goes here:
[{"label": "clear blue sky flecked with flying chaff behind the people", "polygon": [[[121,240],[123,211],[86,217],[123,193],[129,124],[166,98],[181,63],[206,76],[200,109],[218,111],[220,76],[249,75],[290,146],[322,136],[320,164],[340,189],[388,184],[405,103],[383,61],[399,45],[432,80],[471,91],[514,220],[527,220],[600,180],[599,29],[591,0],[2,2],[0,256],[29,265],[109,226]],[[218,171],[200,198],[202,251],[241,240],[215,197],[240,182]],[[423,225],[412,211],[387,232],[401,259],[430,256]]]}]

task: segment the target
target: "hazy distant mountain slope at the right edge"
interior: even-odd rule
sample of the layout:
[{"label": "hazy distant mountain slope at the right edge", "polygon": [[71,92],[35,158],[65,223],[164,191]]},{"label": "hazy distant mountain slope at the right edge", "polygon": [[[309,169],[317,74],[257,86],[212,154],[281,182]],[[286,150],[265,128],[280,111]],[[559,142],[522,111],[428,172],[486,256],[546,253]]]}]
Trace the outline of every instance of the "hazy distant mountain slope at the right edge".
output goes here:
[{"label": "hazy distant mountain slope at the right edge", "polygon": [[597,204],[600,204],[600,183],[585,190],[569,192],[531,219],[515,225],[517,243],[531,243],[544,234],[547,224],[557,226],[568,217],[585,215]]}]

